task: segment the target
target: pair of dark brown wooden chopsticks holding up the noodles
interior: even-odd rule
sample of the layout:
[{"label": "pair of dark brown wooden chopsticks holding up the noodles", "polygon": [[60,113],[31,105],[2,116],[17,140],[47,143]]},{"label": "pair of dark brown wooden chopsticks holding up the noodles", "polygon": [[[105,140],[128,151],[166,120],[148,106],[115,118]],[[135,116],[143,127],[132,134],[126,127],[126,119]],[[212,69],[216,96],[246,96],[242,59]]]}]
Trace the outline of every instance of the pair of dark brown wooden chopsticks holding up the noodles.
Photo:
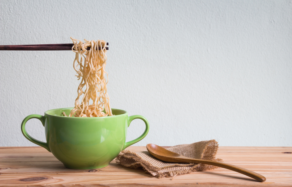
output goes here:
[{"label": "pair of dark brown wooden chopsticks holding up the noodles", "polygon": [[[108,43],[106,43],[108,45]],[[73,43],[56,43],[56,44],[35,44],[35,45],[7,45],[0,46],[0,50],[4,51],[70,51]],[[90,47],[86,48],[87,50]],[[98,47],[99,50],[100,47]],[[108,50],[108,47],[105,47]]]}]

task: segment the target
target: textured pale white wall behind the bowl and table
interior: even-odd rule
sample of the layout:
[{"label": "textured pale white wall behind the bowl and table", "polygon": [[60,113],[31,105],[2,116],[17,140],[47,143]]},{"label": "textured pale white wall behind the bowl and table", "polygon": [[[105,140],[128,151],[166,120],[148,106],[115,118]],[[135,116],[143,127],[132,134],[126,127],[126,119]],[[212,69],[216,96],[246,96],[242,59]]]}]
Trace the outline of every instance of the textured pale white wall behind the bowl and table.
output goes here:
[{"label": "textured pale white wall behind the bowl and table", "polygon": [[[70,36],[109,42],[111,106],[150,123],[137,146],[292,146],[291,1],[0,1],[0,45]],[[34,146],[24,117],[74,106],[74,55],[0,51],[0,146]]]}]

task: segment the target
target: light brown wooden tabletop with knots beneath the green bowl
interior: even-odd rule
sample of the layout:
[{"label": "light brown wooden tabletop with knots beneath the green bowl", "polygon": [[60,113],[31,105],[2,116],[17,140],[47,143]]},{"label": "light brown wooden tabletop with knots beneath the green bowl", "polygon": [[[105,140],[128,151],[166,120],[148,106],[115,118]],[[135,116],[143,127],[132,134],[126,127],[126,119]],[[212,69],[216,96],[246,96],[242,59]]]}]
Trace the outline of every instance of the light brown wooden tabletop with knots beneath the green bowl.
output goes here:
[{"label": "light brown wooden tabletop with knots beneath the green bowl", "polygon": [[[145,151],[146,147],[128,147]],[[292,147],[219,147],[217,158],[267,178],[263,183],[227,169],[158,179],[142,169],[111,164],[67,169],[42,147],[0,147],[0,186],[292,186]]]}]

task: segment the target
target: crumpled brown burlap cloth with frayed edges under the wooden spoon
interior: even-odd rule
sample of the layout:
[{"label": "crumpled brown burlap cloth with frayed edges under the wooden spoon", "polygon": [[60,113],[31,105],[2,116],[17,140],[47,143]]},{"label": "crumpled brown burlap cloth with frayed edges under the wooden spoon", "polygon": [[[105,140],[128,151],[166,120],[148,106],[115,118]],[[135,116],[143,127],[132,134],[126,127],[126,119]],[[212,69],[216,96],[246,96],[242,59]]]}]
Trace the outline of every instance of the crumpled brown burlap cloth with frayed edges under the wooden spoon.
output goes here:
[{"label": "crumpled brown burlap cloth with frayed edges under the wooden spoon", "polygon": [[[167,150],[190,158],[222,161],[221,159],[215,158],[218,150],[218,142],[215,140],[176,145],[167,148]],[[176,175],[187,174],[195,171],[218,168],[216,166],[205,164],[163,162],[150,155],[148,151],[131,152],[124,150],[117,156],[116,162],[128,168],[142,167],[145,172],[158,178],[174,177]]]}]

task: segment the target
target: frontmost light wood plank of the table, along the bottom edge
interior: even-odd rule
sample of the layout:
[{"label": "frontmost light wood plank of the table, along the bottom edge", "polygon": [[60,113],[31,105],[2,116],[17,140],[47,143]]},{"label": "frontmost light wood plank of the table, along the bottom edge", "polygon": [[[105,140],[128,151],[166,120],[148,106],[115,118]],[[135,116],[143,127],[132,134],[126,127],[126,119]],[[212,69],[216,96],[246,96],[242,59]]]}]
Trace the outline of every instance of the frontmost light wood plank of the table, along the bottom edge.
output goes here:
[{"label": "frontmost light wood plank of the table, along the bottom edge", "polygon": [[[199,174],[198,174],[199,173]],[[46,174],[4,174],[1,184],[5,186],[291,186],[291,175],[265,173],[267,181],[260,183],[235,173],[194,172],[170,178],[158,179],[149,174],[126,172],[123,175],[114,173],[46,173]],[[4,178],[5,177],[5,178]],[[4,178],[4,180],[2,180]]]}]

